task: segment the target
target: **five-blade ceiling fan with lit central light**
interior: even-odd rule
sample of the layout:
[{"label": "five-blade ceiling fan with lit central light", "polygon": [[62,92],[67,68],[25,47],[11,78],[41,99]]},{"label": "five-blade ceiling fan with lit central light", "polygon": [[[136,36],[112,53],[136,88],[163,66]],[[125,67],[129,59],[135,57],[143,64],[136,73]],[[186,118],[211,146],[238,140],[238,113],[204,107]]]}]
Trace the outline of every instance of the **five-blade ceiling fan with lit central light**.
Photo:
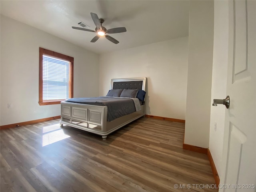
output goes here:
[{"label": "five-blade ceiling fan with lit central light", "polygon": [[108,34],[111,33],[122,33],[122,32],[126,32],[126,28],[125,27],[118,27],[118,28],[112,28],[112,29],[106,29],[104,27],[102,27],[102,23],[104,22],[104,19],[99,19],[98,15],[96,13],[91,13],[92,16],[92,20],[94,22],[94,24],[96,25],[95,31],[94,30],[90,30],[90,29],[86,29],[86,28],[81,28],[81,27],[72,27],[73,29],[78,29],[78,30],[83,30],[83,31],[89,31],[89,32],[96,32],[97,35],[92,38],[91,42],[94,43],[96,42],[101,36],[105,36],[105,38],[107,40],[110,40],[111,42],[118,44],[119,41],[112,38]]}]

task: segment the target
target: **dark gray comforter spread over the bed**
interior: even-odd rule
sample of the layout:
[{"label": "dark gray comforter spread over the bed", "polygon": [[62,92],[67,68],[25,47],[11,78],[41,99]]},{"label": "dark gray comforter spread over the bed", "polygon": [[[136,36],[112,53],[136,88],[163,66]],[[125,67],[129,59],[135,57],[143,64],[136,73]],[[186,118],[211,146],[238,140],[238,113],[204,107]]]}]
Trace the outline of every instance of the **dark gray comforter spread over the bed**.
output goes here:
[{"label": "dark gray comforter spread over the bed", "polygon": [[134,98],[117,98],[117,97],[90,97],[90,98],[70,98],[66,102],[107,106],[108,121],[118,117],[131,114],[136,111]]}]

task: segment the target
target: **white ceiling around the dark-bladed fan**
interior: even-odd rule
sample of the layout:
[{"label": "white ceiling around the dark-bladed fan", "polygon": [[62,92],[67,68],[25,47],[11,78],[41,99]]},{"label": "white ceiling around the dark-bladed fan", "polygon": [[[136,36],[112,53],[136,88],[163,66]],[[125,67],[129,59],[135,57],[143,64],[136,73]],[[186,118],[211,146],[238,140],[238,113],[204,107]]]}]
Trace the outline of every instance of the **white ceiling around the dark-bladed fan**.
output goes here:
[{"label": "white ceiling around the dark-bladed fan", "polygon": [[[1,0],[1,14],[96,53],[111,52],[188,36],[189,1],[184,0]],[[96,35],[72,29],[82,21],[95,30],[90,12],[98,14],[107,29],[126,27],[95,43]]]}]

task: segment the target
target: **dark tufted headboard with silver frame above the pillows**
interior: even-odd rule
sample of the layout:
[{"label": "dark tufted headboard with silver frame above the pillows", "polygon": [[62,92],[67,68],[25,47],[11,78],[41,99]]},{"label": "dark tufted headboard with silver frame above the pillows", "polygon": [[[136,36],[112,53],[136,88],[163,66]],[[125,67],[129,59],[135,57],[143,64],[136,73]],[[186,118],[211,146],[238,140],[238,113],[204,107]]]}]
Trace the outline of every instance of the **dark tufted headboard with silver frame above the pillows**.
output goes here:
[{"label": "dark tufted headboard with silver frame above the pillows", "polygon": [[111,79],[110,89],[139,89],[146,91],[146,77]]}]

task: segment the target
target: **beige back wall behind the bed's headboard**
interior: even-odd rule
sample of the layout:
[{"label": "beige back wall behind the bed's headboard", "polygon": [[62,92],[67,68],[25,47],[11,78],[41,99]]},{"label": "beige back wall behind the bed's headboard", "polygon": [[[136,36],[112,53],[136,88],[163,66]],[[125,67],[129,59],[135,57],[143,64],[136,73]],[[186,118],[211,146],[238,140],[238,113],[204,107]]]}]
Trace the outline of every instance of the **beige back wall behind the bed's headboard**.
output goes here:
[{"label": "beige back wall behind the bed's headboard", "polygon": [[111,78],[147,77],[146,114],[185,119],[188,37],[100,55],[100,95]]}]

